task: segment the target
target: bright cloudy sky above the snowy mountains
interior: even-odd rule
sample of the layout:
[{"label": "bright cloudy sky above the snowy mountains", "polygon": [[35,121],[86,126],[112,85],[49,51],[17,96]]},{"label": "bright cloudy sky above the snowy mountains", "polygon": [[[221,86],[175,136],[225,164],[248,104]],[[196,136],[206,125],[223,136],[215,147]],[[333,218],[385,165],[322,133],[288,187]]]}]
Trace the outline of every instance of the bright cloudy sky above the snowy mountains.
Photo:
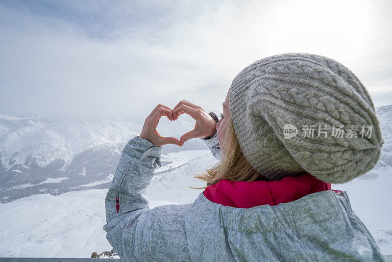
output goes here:
[{"label": "bright cloudy sky above the snowy mountains", "polygon": [[0,114],[145,119],[181,100],[222,111],[247,65],[286,52],[349,68],[392,104],[392,1],[0,2]]}]

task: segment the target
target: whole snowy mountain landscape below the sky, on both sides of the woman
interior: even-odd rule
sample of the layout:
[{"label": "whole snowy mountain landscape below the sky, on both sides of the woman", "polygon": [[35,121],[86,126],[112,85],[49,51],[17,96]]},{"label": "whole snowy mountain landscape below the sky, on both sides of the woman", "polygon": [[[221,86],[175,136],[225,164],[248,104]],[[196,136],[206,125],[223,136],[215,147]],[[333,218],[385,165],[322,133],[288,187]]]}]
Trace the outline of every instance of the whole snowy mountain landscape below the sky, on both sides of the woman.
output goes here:
[{"label": "whole snowy mountain landscape below the sky, on both sides of the woman", "polygon": [[[392,105],[378,107],[377,115],[385,137],[385,144],[379,162],[364,176],[349,183],[333,184],[332,188],[347,191],[352,209],[364,221],[382,252],[391,255],[392,194],[389,187],[392,184]],[[116,133],[114,129],[109,129],[106,125],[94,123],[95,121],[91,120],[67,119],[69,122],[64,123],[63,129],[59,129],[56,127],[66,120],[52,119],[50,122],[44,121],[42,118],[28,120],[11,118],[11,120],[2,122],[5,118],[11,117],[2,116],[1,118],[0,147],[1,150],[3,148],[12,149],[10,145],[10,141],[12,141],[15,150],[12,154],[1,151],[3,152],[1,153],[1,159],[4,159],[2,160],[3,163],[7,164],[2,166],[0,179],[4,179],[1,178],[3,176],[7,178],[9,186],[4,187],[4,183],[1,184],[3,186],[1,196],[6,198],[3,199],[3,204],[0,204],[0,239],[3,239],[0,245],[0,257],[90,258],[93,252],[100,254],[104,251],[111,251],[112,247],[105,238],[106,232],[102,230],[105,224],[104,199],[123,145],[132,135],[140,132],[141,125],[139,125],[140,128],[134,128],[135,126],[129,121],[107,120],[106,125],[112,125],[120,129]],[[10,123],[15,123],[13,121],[27,124],[15,124],[16,128],[12,129]],[[32,123],[29,123],[29,121]],[[44,123],[42,124],[42,122]],[[4,123],[7,123],[8,126]],[[183,132],[191,130],[193,123],[190,120],[189,123],[183,124],[184,131],[178,131],[178,136],[177,134],[174,134],[174,136],[179,138]],[[74,124],[73,131],[68,131],[67,136],[67,132],[64,130],[67,130],[67,127],[72,126],[72,124]],[[162,129],[161,132],[162,134],[167,132],[166,135],[168,135],[174,123],[168,121],[168,123],[162,124],[163,126],[168,124],[168,129]],[[39,129],[38,126],[40,125],[44,128]],[[182,124],[178,123],[178,125]],[[177,127],[175,126],[176,129]],[[97,128],[101,128],[100,135],[94,132]],[[178,129],[180,128],[181,126],[178,127]],[[83,133],[84,137],[88,137],[90,141],[105,142],[98,142],[93,145],[85,143],[85,147],[82,144],[84,141],[81,141],[79,145],[75,142],[73,146],[69,146],[73,150],[73,154],[67,153],[68,155],[64,154],[59,158],[50,158],[49,156],[42,158],[54,160],[46,161],[47,165],[43,165],[45,167],[41,169],[37,168],[41,171],[47,170],[47,173],[44,175],[39,174],[38,171],[34,173],[41,176],[36,182],[31,183],[29,180],[23,180],[22,178],[20,178],[20,182],[12,182],[12,180],[16,180],[18,175],[23,175],[28,179],[34,175],[28,173],[28,170],[33,169],[33,165],[29,162],[30,159],[39,159],[39,156],[45,154],[39,155],[33,152],[33,145],[40,144],[40,139],[43,139],[43,136],[40,136],[37,130],[44,132],[46,129],[49,130],[49,133],[56,133],[57,137],[63,137],[65,142],[62,142],[62,145],[67,145],[67,143],[71,145],[72,142],[67,142],[65,137],[75,142],[74,140],[79,138],[74,137],[78,137],[77,135],[80,133]],[[55,132],[55,130],[57,131]],[[112,131],[111,135],[108,135],[110,130]],[[159,126],[158,131],[160,131]],[[16,134],[14,134],[15,132]],[[29,133],[33,134],[29,135]],[[122,137],[122,133],[126,133],[126,135]],[[33,137],[34,142],[29,142],[27,137]],[[57,148],[59,147],[58,144],[61,144],[55,143],[55,140],[50,140],[48,137],[45,138],[44,141],[41,141],[43,143],[41,144],[42,149],[45,148],[45,145]],[[9,144],[4,141],[8,141]],[[165,150],[161,156],[162,166],[156,170],[156,175],[146,191],[150,208],[168,204],[192,203],[202,192],[200,189],[191,189],[188,186],[204,186],[204,183],[193,178],[194,175],[200,174],[218,161],[212,157],[202,141],[193,139],[187,143],[190,142],[194,142],[195,146],[192,145],[193,148],[187,148],[186,151],[176,151],[164,146]],[[78,146],[79,151],[76,150]],[[29,148],[31,151],[24,150],[24,148]],[[25,152],[36,155],[23,158]],[[51,151],[42,150],[40,152],[50,153]],[[55,155],[54,153],[50,154]],[[10,156],[14,156],[14,158]],[[68,162],[66,156],[69,156],[67,158],[69,159]],[[96,158],[98,160],[95,160]],[[24,162],[23,159],[25,159]],[[64,160],[64,163],[56,166],[53,161],[57,159],[60,159],[58,161]],[[41,163],[43,162],[45,161],[42,160]],[[23,165],[26,168],[20,170],[19,168]],[[38,166],[38,163],[35,166]],[[21,172],[13,171],[15,174],[10,176],[9,172],[17,168]],[[55,171],[52,173],[50,170]],[[29,188],[34,190],[28,193],[30,196],[23,197],[24,190]],[[18,193],[10,193],[13,191],[18,191]]]}]

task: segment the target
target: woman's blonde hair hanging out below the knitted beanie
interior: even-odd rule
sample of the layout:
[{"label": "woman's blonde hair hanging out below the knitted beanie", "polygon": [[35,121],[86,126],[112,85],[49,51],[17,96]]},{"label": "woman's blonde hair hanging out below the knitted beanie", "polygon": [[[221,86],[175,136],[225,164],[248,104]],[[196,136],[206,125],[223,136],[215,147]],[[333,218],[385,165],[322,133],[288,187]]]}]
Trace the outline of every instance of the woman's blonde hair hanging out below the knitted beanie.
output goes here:
[{"label": "woman's blonde hair hanging out below the knitted beanie", "polygon": [[223,134],[225,139],[225,154],[222,155],[221,161],[212,168],[207,169],[205,173],[196,175],[194,178],[207,182],[204,187],[193,187],[193,189],[205,189],[210,184],[218,183],[222,179],[228,181],[269,181],[260,175],[246,160],[237,135],[234,130],[231,115],[227,116],[226,133]]}]

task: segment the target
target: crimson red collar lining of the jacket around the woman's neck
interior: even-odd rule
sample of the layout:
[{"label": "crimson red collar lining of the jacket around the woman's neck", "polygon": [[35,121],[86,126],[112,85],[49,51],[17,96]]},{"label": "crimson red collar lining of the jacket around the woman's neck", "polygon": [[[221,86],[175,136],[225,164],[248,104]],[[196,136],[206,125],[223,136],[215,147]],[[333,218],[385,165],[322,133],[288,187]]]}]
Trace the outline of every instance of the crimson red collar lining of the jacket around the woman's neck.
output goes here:
[{"label": "crimson red collar lining of the jacket around the woman's neck", "polygon": [[330,190],[331,184],[307,173],[285,177],[278,181],[228,181],[209,185],[204,196],[211,202],[234,208],[252,208],[262,205],[275,206],[319,191]]}]

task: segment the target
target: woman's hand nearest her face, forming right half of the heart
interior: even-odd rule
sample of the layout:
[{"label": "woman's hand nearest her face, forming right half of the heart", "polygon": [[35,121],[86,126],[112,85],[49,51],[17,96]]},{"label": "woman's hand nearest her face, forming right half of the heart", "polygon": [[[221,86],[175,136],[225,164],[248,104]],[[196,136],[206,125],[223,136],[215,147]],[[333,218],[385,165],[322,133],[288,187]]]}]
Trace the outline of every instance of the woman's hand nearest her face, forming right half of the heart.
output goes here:
[{"label": "woman's hand nearest her face, forming right half of the heart", "polygon": [[178,116],[183,113],[195,119],[196,124],[194,130],[181,136],[180,146],[183,146],[189,139],[210,137],[217,132],[217,122],[200,106],[182,100],[173,108],[173,120],[177,120]]}]

